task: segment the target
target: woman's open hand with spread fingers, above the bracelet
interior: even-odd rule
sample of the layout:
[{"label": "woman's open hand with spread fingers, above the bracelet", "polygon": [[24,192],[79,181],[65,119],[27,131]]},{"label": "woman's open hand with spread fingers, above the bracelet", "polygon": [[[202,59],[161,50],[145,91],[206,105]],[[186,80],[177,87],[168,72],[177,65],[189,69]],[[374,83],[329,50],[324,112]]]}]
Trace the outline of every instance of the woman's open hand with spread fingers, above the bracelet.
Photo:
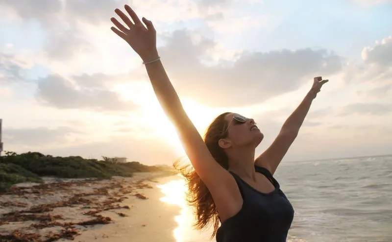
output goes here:
[{"label": "woman's open hand with spread fingers, above the bracelet", "polygon": [[111,18],[110,20],[117,27],[111,27],[111,29],[125,40],[143,61],[147,62],[156,59],[158,57],[156,31],[151,21],[144,17],[142,18],[143,23],[147,26],[146,28],[130,6],[125,5],[125,10],[133,22],[120,9],[116,8],[114,11],[128,27],[120,24],[117,19]]}]

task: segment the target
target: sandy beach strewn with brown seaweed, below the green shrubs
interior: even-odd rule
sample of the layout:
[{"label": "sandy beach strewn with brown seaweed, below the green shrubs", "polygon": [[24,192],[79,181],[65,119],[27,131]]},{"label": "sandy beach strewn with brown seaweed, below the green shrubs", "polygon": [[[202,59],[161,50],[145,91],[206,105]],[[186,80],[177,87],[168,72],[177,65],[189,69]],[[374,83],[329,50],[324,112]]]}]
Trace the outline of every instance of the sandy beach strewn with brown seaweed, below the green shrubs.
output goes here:
[{"label": "sandy beach strewn with brown seaweed, below the green shrubs", "polygon": [[160,202],[156,187],[172,178],[146,172],[14,185],[0,195],[0,241],[175,242],[173,215],[179,208]]}]

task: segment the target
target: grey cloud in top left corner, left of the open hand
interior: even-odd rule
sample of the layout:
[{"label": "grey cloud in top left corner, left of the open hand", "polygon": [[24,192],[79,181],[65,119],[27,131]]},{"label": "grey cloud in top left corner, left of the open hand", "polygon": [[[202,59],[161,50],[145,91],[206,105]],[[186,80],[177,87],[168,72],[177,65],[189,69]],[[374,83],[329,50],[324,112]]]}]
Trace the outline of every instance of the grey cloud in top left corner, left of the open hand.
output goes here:
[{"label": "grey cloud in top left corner, left of the open hand", "polygon": [[[74,0],[65,1],[71,8],[63,8],[61,0],[4,0],[0,6],[13,9],[24,21],[36,20],[46,30],[44,51],[49,58],[66,60],[82,51],[92,51],[91,44],[83,38],[83,30],[78,25],[78,20],[83,17],[93,18],[89,13],[97,13],[97,6],[103,1],[77,1],[81,8],[75,6]],[[112,1],[108,1],[112,2]],[[90,8],[85,7],[89,5]],[[103,8],[105,9],[105,8]],[[67,11],[69,12],[67,14]],[[85,11],[84,14],[78,11]],[[94,21],[91,19],[91,21]]]}]

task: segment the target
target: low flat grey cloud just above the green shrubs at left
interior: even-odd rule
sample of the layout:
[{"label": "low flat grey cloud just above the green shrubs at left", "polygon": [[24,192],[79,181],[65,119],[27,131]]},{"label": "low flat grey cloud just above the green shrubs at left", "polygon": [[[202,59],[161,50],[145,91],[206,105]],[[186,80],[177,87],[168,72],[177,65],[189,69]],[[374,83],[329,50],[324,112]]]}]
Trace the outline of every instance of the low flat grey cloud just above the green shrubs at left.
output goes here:
[{"label": "low flat grey cloud just above the green shrubs at left", "polygon": [[46,145],[64,143],[66,136],[79,131],[70,127],[4,128],[4,143],[10,145]]}]

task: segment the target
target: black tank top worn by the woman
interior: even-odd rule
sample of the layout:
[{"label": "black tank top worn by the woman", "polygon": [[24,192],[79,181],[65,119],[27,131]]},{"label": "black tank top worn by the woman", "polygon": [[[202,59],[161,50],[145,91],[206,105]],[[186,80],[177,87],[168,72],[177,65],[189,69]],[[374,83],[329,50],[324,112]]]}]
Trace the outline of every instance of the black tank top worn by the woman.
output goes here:
[{"label": "black tank top worn by the woman", "polygon": [[217,232],[217,242],[285,242],[294,217],[294,209],[279,183],[268,169],[255,166],[275,190],[264,194],[230,172],[244,200],[241,210],[225,220]]}]

